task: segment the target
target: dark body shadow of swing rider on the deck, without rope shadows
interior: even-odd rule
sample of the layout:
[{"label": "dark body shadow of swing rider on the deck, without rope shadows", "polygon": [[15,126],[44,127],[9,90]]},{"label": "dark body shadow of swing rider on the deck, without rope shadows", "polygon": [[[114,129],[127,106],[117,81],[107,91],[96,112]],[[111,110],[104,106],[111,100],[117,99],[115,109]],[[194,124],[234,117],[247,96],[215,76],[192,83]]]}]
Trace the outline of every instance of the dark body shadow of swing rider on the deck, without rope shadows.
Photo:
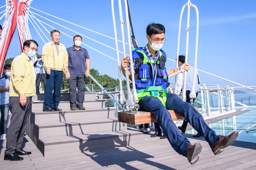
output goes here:
[{"label": "dark body shadow of swing rider on the deck, without rope shadows", "polygon": [[[82,142],[80,140],[80,150],[84,155],[89,156],[93,161],[101,165],[102,167],[108,167],[111,165],[118,165],[126,170],[139,170],[136,167],[133,167],[129,164],[131,161],[140,161],[144,164],[150,164],[151,166],[154,166],[156,169],[169,169],[169,170],[175,170],[171,167],[168,167],[164,164],[160,164],[151,160],[148,160],[150,158],[154,158],[154,156],[148,155],[146,153],[143,153],[139,150],[134,149],[133,147],[127,146],[126,141],[122,141],[119,138],[108,138],[108,147],[114,147],[114,149],[109,150],[99,150],[100,146],[93,146],[92,144],[95,144],[96,140],[90,140],[93,138],[102,138],[108,136],[108,135],[99,135],[99,134],[93,134],[88,136],[88,140],[86,142]],[[126,144],[125,144],[126,142]],[[124,146],[125,145],[125,146]],[[122,149],[119,149],[117,147],[122,147]],[[124,149],[125,147],[125,149]]]}]

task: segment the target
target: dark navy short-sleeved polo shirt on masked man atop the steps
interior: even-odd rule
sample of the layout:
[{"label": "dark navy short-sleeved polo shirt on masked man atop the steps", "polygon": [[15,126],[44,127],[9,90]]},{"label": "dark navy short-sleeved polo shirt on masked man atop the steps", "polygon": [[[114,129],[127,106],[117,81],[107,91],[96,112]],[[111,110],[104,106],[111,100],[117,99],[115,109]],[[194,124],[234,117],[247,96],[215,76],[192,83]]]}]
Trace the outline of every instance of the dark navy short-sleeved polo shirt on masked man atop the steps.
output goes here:
[{"label": "dark navy short-sleeved polo shirt on masked man atop the steps", "polygon": [[70,74],[85,74],[86,62],[85,59],[90,59],[88,51],[80,47],[77,50],[74,45],[67,48],[68,54],[68,71]]}]

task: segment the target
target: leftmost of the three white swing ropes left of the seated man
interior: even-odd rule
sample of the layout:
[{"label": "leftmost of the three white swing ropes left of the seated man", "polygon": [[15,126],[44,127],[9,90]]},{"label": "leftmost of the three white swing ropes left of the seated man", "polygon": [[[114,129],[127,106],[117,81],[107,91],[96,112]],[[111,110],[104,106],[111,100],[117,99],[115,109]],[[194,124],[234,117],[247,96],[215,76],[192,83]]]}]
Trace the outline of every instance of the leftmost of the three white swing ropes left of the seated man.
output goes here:
[{"label": "leftmost of the three white swing ropes left of the seated man", "polygon": [[[124,106],[125,103],[125,95],[122,88],[122,75],[121,75],[121,68],[120,68],[120,59],[119,59],[119,49],[118,49],[118,42],[117,42],[117,34],[116,34],[116,19],[115,19],[115,11],[114,11],[114,0],[111,0],[111,10],[112,10],[112,18],[113,18],[113,28],[114,28],[114,35],[115,35],[115,44],[116,44],[116,59],[117,59],[117,69],[118,69],[118,76],[119,76],[119,87],[120,87],[120,103]],[[124,111],[124,107],[123,107]]]}]

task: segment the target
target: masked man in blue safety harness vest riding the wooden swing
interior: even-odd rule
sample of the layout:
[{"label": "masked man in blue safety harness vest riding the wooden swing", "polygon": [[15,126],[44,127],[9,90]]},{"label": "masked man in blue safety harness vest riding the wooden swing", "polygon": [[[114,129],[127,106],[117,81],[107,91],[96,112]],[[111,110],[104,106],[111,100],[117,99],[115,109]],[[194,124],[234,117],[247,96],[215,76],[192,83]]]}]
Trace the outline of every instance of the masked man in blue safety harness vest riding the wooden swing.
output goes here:
[{"label": "masked man in blue safety harness vest riding the wooden swing", "polygon": [[[139,47],[132,52],[135,71],[135,86],[137,90],[145,89],[148,85],[162,86],[163,89],[166,89],[167,81],[165,80],[168,80],[168,75],[178,71],[182,67],[185,67],[186,71],[188,71],[189,65],[183,64],[180,68],[167,71],[165,67],[166,54],[161,49],[165,40],[164,26],[161,24],[150,23],[147,26],[146,33],[148,44],[144,48]],[[143,62],[143,60],[145,61],[143,56],[146,56],[147,59],[149,59],[147,63]],[[122,59],[121,70],[124,76],[124,68],[128,67],[129,63],[130,61],[128,57]],[[167,78],[166,74],[168,74]],[[130,72],[129,77],[131,77]],[[138,104],[140,105],[140,109],[154,114],[173,149],[180,155],[187,157],[191,164],[195,164],[198,161],[198,155],[202,150],[202,145],[200,143],[192,145],[188,139],[182,136],[177,129],[177,126],[172,121],[172,117],[168,110],[174,110],[185,117],[189,124],[204,136],[215,155],[221,153],[225,147],[232,144],[238,136],[237,131],[231,133],[229,136],[217,136],[215,131],[204,122],[203,116],[196,111],[191,104],[183,102],[176,94],[166,94],[166,107],[164,107],[160,99],[152,96],[141,97]]]}]

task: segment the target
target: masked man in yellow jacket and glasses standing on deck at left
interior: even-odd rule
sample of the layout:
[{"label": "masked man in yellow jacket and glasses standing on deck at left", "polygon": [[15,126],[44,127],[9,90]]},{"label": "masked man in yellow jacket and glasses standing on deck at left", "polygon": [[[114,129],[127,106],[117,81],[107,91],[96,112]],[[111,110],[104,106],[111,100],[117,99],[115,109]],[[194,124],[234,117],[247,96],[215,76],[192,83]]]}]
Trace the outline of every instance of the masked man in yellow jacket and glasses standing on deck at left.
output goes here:
[{"label": "masked man in yellow jacket and glasses standing on deck at left", "polygon": [[21,148],[29,113],[31,113],[32,96],[35,96],[35,71],[30,60],[38,51],[38,43],[26,40],[23,52],[12,61],[9,102],[12,118],[7,131],[4,160],[21,161],[18,155],[29,155]]}]

